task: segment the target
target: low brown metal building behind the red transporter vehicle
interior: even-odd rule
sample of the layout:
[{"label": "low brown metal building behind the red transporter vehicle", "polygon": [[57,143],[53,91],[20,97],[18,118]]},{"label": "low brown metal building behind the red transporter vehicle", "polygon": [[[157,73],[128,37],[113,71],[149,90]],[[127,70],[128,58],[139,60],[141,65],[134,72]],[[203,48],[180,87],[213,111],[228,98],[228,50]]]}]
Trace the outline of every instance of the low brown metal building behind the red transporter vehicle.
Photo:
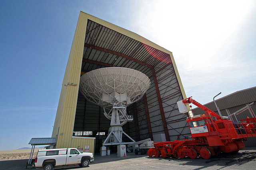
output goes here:
[{"label": "low brown metal building behind the red transporter vehicle", "polygon": [[[239,109],[242,109],[243,107],[251,104],[252,102],[256,103],[256,87],[234,92],[228,96],[224,96],[223,98],[215,100],[215,102],[219,107],[222,116],[231,115],[232,113],[238,111]],[[208,104],[204,104],[204,106],[208,107],[215,113],[218,113],[213,101]],[[251,109],[254,114],[256,114],[256,106],[252,106]],[[205,112],[204,110],[196,107],[195,109],[193,109],[193,113],[194,115],[202,115]],[[231,116],[230,120],[237,122],[241,119],[246,119],[247,116],[254,117],[254,115],[252,115],[250,111],[246,110],[239,115]],[[256,146],[256,137],[249,137],[248,141],[244,141],[244,144],[246,146]]]}]

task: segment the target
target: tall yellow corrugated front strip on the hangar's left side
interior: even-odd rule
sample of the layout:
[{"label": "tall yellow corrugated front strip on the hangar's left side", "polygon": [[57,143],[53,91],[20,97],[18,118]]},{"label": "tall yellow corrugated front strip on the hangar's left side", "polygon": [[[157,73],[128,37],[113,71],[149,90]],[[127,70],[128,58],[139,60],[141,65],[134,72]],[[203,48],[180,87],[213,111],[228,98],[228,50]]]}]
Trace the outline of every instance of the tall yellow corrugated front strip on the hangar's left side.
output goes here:
[{"label": "tall yellow corrugated front strip on the hangar's left side", "polygon": [[[70,147],[72,142],[86,25],[87,19],[80,13],[62,83],[60,101],[52,132],[52,137],[58,136],[56,148]],[[64,86],[68,82],[78,85]]]}]

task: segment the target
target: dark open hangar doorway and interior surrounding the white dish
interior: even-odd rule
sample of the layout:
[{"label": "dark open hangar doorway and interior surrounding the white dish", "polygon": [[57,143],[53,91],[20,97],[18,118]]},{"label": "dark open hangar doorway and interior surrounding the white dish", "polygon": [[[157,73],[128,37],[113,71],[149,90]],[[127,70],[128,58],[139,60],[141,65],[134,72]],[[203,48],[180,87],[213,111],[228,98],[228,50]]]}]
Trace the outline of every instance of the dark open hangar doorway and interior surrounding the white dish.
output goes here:
[{"label": "dark open hangar doorway and interior surrounding the white dish", "polygon": [[[123,126],[124,131],[135,141],[153,140],[153,136],[160,133],[165,135],[166,141],[189,138],[188,115],[179,113],[176,104],[186,95],[172,53],[128,30],[125,30],[126,35],[119,33],[116,27],[87,20],[81,75],[113,66],[146,74],[151,81],[150,89],[140,101],[128,106],[128,115],[133,115],[134,120]],[[129,33],[138,39],[131,38]],[[144,42],[139,41],[140,38]],[[78,92],[73,136],[96,137],[97,152],[109,127],[110,121],[103,109],[86,101]]]}]

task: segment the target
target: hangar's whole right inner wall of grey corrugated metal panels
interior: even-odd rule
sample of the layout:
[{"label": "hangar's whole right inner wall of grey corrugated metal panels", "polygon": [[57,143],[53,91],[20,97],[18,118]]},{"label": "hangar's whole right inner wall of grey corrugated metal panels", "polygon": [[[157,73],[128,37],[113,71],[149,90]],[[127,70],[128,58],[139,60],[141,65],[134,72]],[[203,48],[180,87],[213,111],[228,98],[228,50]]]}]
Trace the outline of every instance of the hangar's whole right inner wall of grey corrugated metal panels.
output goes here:
[{"label": "hangar's whole right inner wall of grey corrugated metal panels", "polygon": [[[177,83],[176,76],[172,65],[170,64],[162,72],[157,75],[158,86],[160,90],[160,96],[164,109],[164,116],[168,128],[168,135],[170,141],[177,139],[188,139],[190,129],[186,122],[187,114],[181,114],[178,111],[176,102],[182,100],[179,84]],[[164,132],[163,120],[161,116],[160,106],[158,103],[158,97],[156,95],[156,87],[154,84],[154,78],[150,78],[151,86],[146,92],[146,100],[148,103],[148,111],[150,115],[150,125],[152,128],[152,134],[160,134]],[[138,126],[140,139],[149,138],[148,122],[146,117],[144,99],[136,103],[138,112]],[[134,115],[133,106],[128,107],[128,111]],[[136,134],[136,122],[130,122],[130,135],[133,139],[138,139]],[[132,132],[132,133],[131,133]]]}]

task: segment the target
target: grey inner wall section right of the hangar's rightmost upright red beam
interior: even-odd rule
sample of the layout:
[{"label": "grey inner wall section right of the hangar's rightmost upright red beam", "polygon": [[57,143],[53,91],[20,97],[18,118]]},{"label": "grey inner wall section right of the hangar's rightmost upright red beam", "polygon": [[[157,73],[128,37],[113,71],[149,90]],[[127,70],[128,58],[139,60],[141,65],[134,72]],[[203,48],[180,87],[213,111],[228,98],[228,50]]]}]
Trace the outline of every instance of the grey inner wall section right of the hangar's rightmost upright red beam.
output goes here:
[{"label": "grey inner wall section right of the hangar's rightmost upright red beam", "polygon": [[170,141],[188,139],[190,137],[190,130],[186,122],[188,115],[178,111],[176,102],[183,98],[172,64],[156,76]]}]

